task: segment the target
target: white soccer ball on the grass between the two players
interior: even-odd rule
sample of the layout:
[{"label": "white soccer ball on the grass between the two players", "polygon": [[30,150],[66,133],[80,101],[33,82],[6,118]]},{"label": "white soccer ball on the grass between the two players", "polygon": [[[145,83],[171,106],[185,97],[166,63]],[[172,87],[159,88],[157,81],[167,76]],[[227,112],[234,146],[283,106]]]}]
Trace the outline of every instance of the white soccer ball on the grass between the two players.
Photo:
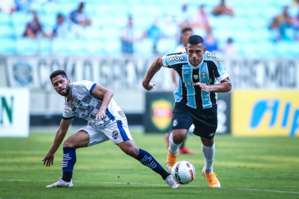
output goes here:
[{"label": "white soccer ball on the grass between the two players", "polygon": [[186,185],[194,179],[195,168],[187,161],[179,161],[173,165],[171,176],[175,182]]}]

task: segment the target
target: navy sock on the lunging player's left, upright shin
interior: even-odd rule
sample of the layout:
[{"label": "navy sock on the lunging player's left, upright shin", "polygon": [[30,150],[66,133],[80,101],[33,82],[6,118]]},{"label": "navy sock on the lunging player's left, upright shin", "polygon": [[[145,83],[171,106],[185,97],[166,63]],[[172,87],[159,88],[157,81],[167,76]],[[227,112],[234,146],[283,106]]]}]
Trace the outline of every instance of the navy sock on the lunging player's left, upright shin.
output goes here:
[{"label": "navy sock on the lunging player's left, upright shin", "polygon": [[71,181],[75,163],[76,163],[75,149],[72,147],[63,147],[62,180],[64,180],[65,182]]}]

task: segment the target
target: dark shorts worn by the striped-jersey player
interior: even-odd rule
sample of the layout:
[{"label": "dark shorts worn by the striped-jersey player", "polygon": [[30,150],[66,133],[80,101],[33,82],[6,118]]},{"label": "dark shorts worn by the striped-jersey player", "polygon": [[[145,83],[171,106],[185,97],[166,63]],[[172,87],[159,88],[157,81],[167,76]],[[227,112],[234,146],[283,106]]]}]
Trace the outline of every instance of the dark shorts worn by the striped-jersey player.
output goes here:
[{"label": "dark shorts worn by the striped-jersey player", "polygon": [[217,104],[210,108],[196,109],[183,103],[175,102],[172,111],[172,130],[189,129],[194,124],[193,133],[212,139],[217,129]]}]

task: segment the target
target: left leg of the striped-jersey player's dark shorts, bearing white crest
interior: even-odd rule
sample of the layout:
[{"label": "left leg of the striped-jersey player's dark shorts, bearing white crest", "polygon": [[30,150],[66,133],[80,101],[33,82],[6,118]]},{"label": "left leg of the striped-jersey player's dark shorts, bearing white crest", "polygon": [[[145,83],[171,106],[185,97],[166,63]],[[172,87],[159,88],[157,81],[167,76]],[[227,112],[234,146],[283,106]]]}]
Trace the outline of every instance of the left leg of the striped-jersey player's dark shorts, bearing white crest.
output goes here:
[{"label": "left leg of the striped-jersey player's dark shorts, bearing white crest", "polygon": [[193,119],[191,112],[183,104],[175,103],[172,111],[171,129],[186,129],[188,130],[192,125]]}]

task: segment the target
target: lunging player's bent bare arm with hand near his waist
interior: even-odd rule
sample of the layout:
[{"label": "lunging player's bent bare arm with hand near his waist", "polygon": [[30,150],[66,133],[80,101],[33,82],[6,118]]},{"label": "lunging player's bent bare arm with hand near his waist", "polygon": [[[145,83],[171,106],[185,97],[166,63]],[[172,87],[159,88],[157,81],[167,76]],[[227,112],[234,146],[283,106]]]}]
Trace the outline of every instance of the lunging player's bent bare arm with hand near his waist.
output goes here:
[{"label": "lunging player's bent bare arm with hand near his waist", "polygon": [[96,87],[92,91],[92,95],[103,99],[102,105],[99,109],[98,114],[96,115],[95,120],[102,119],[106,115],[106,109],[108,107],[110,100],[113,97],[113,92],[110,91],[109,89],[106,89],[105,87],[96,85]]}]

